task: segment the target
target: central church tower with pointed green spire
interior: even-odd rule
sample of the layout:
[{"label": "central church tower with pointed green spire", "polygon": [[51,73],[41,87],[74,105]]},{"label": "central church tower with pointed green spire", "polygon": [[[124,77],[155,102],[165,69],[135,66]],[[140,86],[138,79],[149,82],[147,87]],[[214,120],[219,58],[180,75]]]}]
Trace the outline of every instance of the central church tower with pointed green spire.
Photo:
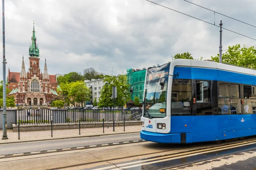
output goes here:
[{"label": "central church tower with pointed green spire", "polygon": [[32,34],[32,44],[29,45],[29,74],[31,77],[34,74],[39,77],[40,75],[40,68],[39,68],[39,48],[38,44],[36,44],[36,37],[35,37],[35,23],[33,23],[33,34]]}]

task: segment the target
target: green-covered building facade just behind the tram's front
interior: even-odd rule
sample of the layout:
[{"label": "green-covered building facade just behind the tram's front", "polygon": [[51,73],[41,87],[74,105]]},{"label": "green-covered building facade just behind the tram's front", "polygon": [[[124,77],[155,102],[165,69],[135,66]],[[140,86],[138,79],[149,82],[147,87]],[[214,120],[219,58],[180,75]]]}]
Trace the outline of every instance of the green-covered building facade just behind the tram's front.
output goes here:
[{"label": "green-covered building facade just behind the tram's front", "polygon": [[131,96],[132,101],[134,101],[135,96],[138,96],[140,99],[140,103],[143,103],[143,91],[144,91],[146,68],[143,68],[142,70],[141,69],[135,70],[135,69],[129,68],[126,71],[127,71],[128,84],[131,87],[134,87],[134,91]]}]

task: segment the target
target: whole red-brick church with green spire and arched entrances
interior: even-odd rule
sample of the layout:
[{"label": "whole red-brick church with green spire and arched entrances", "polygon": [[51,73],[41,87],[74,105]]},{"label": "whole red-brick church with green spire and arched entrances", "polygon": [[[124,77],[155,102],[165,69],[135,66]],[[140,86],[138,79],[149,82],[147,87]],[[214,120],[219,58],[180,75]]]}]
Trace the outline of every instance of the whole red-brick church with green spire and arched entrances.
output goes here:
[{"label": "whole red-brick church with green spire and arched entrances", "polygon": [[57,90],[56,75],[49,75],[46,59],[44,73],[39,67],[39,48],[36,43],[35,26],[33,26],[32,44],[29,46],[29,69],[26,72],[24,58],[22,57],[21,71],[8,71],[9,96],[14,96],[18,105],[47,105],[55,96]]}]

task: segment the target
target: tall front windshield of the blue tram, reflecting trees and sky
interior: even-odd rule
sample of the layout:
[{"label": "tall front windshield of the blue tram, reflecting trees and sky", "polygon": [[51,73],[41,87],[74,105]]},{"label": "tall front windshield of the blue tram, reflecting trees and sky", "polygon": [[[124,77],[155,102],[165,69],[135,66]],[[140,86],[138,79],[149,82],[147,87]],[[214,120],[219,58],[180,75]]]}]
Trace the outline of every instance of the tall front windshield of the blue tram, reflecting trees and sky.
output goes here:
[{"label": "tall front windshield of the blue tram, reflecting trees and sky", "polygon": [[170,63],[148,68],[145,83],[144,117],[166,116],[166,96]]}]

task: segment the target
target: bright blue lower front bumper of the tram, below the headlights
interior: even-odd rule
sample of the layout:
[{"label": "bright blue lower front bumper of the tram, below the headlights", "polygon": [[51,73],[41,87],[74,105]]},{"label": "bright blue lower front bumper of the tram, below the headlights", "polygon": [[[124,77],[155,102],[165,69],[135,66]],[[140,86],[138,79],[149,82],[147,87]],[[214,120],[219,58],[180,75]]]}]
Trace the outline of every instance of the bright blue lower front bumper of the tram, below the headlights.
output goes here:
[{"label": "bright blue lower front bumper of the tram, below the headlights", "polygon": [[140,138],[158,143],[192,143],[191,133],[154,133],[142,130]]}]

